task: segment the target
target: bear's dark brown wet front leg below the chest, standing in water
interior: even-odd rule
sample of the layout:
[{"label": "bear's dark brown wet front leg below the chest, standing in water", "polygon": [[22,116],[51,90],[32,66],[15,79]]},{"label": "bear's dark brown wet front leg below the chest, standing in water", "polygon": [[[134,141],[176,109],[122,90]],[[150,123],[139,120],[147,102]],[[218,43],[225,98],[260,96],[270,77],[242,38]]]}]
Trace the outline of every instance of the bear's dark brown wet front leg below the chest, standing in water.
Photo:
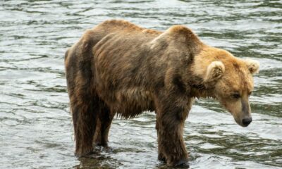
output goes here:
[{"label": "bear's dark brown wet front leg below the chest, standing in water", "polygon": [[157,135],[159,160],[168,166],[189,167],[183,140],[183,127],[188,116],[188,104],[157,104]]}]

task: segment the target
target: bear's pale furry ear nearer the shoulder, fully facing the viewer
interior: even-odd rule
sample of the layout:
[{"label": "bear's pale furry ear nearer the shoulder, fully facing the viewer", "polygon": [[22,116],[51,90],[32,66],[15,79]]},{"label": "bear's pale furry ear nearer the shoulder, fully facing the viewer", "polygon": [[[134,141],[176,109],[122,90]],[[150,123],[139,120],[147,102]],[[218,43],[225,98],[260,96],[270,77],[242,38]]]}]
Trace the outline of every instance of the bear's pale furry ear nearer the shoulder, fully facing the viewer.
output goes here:
[{"label": "bear's pale furry ear nearer the shoulder, fully facing the viewer", "polygon": [[204,82],[212,82],[218,80],[224,73],[225,66],[221,61],[213,61],[207,67],[207,73],[204,77]]}]

